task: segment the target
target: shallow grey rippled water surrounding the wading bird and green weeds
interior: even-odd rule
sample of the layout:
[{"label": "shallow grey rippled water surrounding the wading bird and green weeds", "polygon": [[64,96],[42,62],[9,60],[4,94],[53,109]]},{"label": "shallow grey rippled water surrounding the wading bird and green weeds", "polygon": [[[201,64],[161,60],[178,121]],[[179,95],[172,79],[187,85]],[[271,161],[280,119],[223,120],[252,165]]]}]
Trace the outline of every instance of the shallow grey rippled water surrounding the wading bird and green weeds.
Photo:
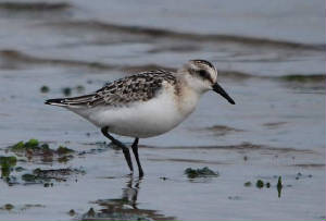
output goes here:
[{"label": "shallow grey rippled water surrounding the wading bird and green weeds", "polygon": [[[67,160],[21,156],[15,167],[26,171],[11,173],[17,182],[0,180],[1,220],[325,219],[324,8],[319,0],[1,1],[0,156],[33,137],[76,150]],[[127,175],[122,152],[103,145],[99,130],[43,105],[65,87],[82,95],[193,58],[217,66],[237,105],[209,93],[178,127],[141,139],[141,180]],[[220,176],[184,174],[203,167]],[[20,179],[36,168],[85,174],[52,187]],[[258,180],[271,187],[258,188]]]}]

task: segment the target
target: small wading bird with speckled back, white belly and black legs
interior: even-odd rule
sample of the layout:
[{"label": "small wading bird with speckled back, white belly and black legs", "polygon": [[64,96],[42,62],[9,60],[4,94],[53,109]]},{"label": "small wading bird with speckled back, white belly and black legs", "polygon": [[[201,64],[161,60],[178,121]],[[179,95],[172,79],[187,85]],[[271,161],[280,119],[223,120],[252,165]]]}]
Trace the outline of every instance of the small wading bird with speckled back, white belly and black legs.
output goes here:
[{"label": "small wading bird with speckled back, white belly and black legs", "polygon": [[64,107],[100,127],[105,137],[122,148],[131,172],[128,147],[110,133],[135,137],[131,149],[139,176],[142,176],[139,138],[158,136],[177,126],[195,110],[201,95],[209,90],[235,105],[217,84],[216,69],[208,61],[191,60],[175,73],[164,70],[142,72],[108,83],[92,94],[50,99],[46,105]]}]

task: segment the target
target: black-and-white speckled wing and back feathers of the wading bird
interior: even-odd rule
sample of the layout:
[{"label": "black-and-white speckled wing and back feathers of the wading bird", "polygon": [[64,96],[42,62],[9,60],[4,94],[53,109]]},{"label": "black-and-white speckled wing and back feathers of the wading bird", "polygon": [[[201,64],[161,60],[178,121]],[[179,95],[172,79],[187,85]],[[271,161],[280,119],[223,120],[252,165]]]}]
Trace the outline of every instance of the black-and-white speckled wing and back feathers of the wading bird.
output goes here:
[{"label": "black-and-white speckled wing and back feathers of the wading bird", "polygon": [[147,101],[160,91],[163,82],[175,85],[177,79],[171,72],[164,70],[143,72],[108,83],[95,94],[65,98],[61,103],[91,108],[96,106],[121,107],[135,101]]}]

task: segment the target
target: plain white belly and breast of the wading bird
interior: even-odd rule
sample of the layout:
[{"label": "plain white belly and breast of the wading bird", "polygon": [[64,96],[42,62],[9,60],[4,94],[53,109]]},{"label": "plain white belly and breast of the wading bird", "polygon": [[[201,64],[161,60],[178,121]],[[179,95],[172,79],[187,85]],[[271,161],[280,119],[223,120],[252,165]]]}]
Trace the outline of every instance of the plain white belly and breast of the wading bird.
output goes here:
[{"label": "plain white belly and breast of the wading bird", "polygon": [[180,111],[174,96],[163,93],[149,101],[129,107],[96,107],[72,110],[99,127],[108,126],[109,132],[122,136],[146,138],[171,131],[181,123],[193,110],[197,101]]}]

